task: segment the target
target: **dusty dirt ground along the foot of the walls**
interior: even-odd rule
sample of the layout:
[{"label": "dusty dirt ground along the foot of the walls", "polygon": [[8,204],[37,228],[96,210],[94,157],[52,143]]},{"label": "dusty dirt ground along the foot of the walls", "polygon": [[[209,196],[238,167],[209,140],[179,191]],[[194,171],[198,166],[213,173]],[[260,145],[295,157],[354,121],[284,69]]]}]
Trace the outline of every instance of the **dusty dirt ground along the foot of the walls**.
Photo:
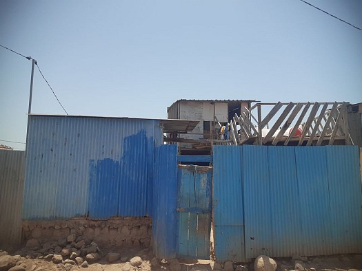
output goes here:
[{"label": "dusty dirt ground along the foot of the walls", "polygon": [[[9,255],[17,255],[21,252],[18,250],[16,252],[9,253]],[[115,261],[114,263],[108,263],[105,259],[105,254],[108,252],[119,252],[122,257],[127,257],[127,261],[130,261],[132,257],[139,256],[143,260],[143,263],[138,267],[134,268],[130,266],[129,262],[122,262],[121,259]],[[215,261],[207,260],[190,260],[190,259],[179,259],[179,267],[176,269],[168,263],[165,259],[159,259],[160,267],[154,268],[151,265],[151,260],[153,258],[152,250],[143,249],[143,250],[133,250],[133,249],[123,249],[117,251],[102,251],[101,259],[97,263],[90,263],[87,268],[82,268],[77,265],[70,265],[59,263],[55,264],[52,261],[46,261],[45,259],[31,259],[36,258],[36,254],[27,254],[21,255],[19,261],[16,265],[22,266],[26,271],[46,271],[46,270],[89,270],[89,271],[206,271],[206,270],[223,270],[223,264],[219,264]],[[38,258],[42,258],[38,256]],[[123,261],[125,260],[123,258]],[[297,261],[299,265],[296,265],[295,258],[274,258],[278,264],[277,271],[286,271],[286,270],[305,270],[305,271],[352,271],[352,270],[362,270],[362,254],[343,254],[343,255],[334,255],[328,257],[303,257],[304,261]],[[23,269],[23,270],[24,270]],[[3,270],[0,268],[0,270]],[[254,270],[254,261],[249,263],[234,263],[234,270],[236,271],[252,271]],[[225,270],[226,271],[226,270]],[[230,270],[228,270],[230,271]]]}]

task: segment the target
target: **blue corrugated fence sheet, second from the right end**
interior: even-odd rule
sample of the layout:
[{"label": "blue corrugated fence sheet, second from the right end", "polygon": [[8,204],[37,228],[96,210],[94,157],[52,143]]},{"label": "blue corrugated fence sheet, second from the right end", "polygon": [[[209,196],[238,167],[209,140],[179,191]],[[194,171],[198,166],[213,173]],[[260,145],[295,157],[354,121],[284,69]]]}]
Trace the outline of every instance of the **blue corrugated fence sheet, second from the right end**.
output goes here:
[{"label": "blue corrugated fence sheet, second from the right end", "polygon": [[325,147],[295,147],[303,255],[332,254]]}]

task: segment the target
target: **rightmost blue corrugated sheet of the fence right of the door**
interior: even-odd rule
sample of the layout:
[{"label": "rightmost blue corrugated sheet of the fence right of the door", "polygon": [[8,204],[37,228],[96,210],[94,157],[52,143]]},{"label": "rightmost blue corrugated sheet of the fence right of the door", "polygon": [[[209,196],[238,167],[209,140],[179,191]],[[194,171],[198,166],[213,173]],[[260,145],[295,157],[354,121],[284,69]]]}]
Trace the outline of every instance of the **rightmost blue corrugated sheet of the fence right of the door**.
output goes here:
[{"label": "rightmost blue corrugated sheet of the fence right of the door", "polygon": [[358,146],[328,146],[332,253],[362,252],[362,188]]}]

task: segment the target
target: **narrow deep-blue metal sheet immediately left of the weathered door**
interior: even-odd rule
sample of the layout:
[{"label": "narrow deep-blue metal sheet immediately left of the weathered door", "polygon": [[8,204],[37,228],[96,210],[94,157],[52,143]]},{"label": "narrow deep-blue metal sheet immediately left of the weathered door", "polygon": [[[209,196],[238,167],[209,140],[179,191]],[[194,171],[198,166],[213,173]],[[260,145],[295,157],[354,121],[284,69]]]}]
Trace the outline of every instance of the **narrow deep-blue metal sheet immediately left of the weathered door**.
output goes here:
[{"label": "narrow deep-blue metal sheet immediately left of the weathered door", "polygon": [[152,248],[155,257],[176,257],[177,145],[155,151]]}]

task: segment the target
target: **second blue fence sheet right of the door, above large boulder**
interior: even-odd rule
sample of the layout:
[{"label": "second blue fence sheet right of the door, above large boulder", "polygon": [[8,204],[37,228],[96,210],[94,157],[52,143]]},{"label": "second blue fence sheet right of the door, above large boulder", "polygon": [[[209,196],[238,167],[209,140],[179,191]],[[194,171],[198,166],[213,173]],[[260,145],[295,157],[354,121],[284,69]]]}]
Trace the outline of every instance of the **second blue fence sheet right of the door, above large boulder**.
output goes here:
[{"label": "second blue fence sheet right of the door, above large boulder", "polygon": [[245,257],[270,255],[270,178],[268,148],[243,146],[243,182],[245,217]]}]

